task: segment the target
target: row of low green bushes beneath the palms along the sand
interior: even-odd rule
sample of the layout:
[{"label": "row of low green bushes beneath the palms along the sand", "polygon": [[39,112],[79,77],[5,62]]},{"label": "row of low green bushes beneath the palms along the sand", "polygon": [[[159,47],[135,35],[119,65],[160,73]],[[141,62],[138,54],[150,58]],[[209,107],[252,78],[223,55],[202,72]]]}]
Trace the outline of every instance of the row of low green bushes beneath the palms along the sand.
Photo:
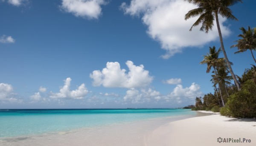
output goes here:
[{"label": "row of low green bushes beneath the palms along the sand", "polygon": [[204,95],[203,103],[201,97],[196,97],[196,105],[198,106],[192,110],[205,109],[232,117],[256,117],[256,66],[253,65],[251,69],[246,69],[241,77],[237,77],[241,90],[237,91],[234,85],[227,86],[226,92],[222,94],[225,104],[221,104],[221,99],[217,96],[221,92],[215,90],[214,94]]}]

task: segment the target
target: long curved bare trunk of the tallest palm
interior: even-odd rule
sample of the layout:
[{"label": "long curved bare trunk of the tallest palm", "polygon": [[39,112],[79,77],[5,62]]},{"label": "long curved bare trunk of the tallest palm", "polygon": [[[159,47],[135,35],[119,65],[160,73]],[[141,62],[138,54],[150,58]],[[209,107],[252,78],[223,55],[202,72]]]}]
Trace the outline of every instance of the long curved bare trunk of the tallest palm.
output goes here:
[{"label": "long curved bare trunk of the tallest palm", "polygon": [[227,58],[227,54],[226,54],[226,51],[224,49],[224,44],[223,44],[223,39],[222,39],[222,34],[221,34],[221,28],[220,28],[220,24],[219,24],[219,21],[218,21],[218,11],[215,11],[215,19],[216,19],[216,23],[217,23],[217,28],[218,28],[218,34],[219,34],[219,37],[220,37],[220,42],[221,42],[221,49],[222,49],[222,52],[224,54],[224,57],[225,57],[225,60],[227,62],[227,67],[230,71],[230,74],[232,75],[233,77],[233,80],[235,81],[236,83],[236,86],[237,86],[237,89],[240,90],[240,86],[239,86],[239,83],[238,81],[236,80],[236,76],[231,68],[231,65],[230,65],[230,62]]}]

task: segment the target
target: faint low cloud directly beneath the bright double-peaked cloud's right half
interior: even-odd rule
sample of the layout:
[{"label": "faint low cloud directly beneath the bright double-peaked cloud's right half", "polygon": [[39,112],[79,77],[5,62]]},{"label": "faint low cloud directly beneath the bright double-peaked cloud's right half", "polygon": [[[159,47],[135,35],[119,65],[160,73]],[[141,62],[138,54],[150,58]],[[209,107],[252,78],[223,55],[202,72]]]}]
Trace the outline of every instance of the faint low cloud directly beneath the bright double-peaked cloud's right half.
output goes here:
[{"label": "faint low cloud directly beneath the bright double-peaked cloud's right half", "polygon": [[151,88],[149,89],[131,89],[126,91],[126,95],[124,97],[125,101],[131,101],[131,103],[144,103],[149,102],[152,99],[159,99],[160,92],[155,91]]}]

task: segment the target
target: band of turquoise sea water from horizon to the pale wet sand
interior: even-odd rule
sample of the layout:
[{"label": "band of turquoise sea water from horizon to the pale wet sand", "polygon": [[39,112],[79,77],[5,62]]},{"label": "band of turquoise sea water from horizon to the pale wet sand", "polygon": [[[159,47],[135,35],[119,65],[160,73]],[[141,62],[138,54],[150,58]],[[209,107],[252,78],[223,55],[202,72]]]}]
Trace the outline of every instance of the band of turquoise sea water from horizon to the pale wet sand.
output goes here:
[{"label": "band of turquoise sea water from horizon to the pale wet sand", "polygon": [[0,137],[44,134],[152,118],[195,114],[190,109],[0,110]]}]

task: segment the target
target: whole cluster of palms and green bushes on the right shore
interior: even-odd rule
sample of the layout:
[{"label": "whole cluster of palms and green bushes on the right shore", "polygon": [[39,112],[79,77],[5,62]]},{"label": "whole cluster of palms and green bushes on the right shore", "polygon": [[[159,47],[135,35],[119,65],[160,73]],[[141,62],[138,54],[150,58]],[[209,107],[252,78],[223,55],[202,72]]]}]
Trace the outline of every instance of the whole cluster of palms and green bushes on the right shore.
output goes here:
[{"label": "whole cluster of palms and green bushes on the right shore", "polygon": [[[240,76],[235,75],[231,68],[233,65],[227,58],[222,40],[221,29],[218,22],[218,14],[227,19],[237,20],[232,15],[232,11],[228,8],[241,0],[187,0],[198,6],[197,9],[190,10],[185,15],[185,20],[199,16],[198,20],[192,25],[202,24],[201,31],[208,33],[212,30],[213,21],[216,20],[221,48],[218,50],[215,46],[209,47],[209,53],[204,55],[204,59],[200,64],[207,65],[207,73],[212,73],[210,80],[213,83],[214,92],[205,94],[204,97],[196,97],[195,107],[192,110],[207,110],[212,112],[220,112],[221,115],[232,117],[256,117],[256,66],[252,65],[250,69],[245,69]],[[250,50],[254,62],[256,63],[253,51],[256,51],[256,28],[248,30],[240,28],[242,34],[236,40],[238,49],[235,54]],[[219,54],[223,52],[224,58],[219,58]],[[232,83],[235,84],[232,84]],[[203,102],[202,102],[203,101]]]}]

